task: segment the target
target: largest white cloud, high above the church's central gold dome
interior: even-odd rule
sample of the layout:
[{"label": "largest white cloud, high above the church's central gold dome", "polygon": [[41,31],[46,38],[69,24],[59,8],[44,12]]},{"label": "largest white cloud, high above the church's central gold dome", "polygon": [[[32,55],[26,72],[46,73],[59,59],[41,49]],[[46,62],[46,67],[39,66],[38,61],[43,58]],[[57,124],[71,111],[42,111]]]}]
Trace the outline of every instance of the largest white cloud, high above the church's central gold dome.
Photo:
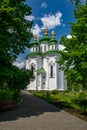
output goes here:
[{"label": "largest white cloud, high above the church's central gold dome", "polygon": [[61,12],[57,12],[54,15],[45,14],[44,17],[41,18],[43,28],[54,29],[56,26],[61,25],[61,17]]}]

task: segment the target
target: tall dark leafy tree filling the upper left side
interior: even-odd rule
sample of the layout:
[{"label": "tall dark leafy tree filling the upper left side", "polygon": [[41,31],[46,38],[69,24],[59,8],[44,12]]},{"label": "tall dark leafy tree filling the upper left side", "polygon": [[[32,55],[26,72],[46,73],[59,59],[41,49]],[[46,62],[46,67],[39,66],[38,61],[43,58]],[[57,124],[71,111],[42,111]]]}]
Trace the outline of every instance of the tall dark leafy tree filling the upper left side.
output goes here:
[{"label": "tall dark leafy tree filling the upper left side", "polygon": [[0,86],[10,77],[12,63],[29,47],[32,22],[26,0],[0,0]]}]

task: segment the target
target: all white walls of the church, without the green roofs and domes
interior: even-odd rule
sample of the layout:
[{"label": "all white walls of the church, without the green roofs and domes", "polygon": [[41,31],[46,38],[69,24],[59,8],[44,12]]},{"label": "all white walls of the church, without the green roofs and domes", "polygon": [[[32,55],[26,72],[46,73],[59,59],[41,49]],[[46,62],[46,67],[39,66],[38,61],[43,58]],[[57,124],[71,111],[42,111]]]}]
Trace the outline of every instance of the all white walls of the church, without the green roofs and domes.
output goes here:
[{"label": "all white walls of the church, without the green roofs and domes", "polygon": [[[57,45],[41,44],[42,52],[45,52],[50,49],[55,49]],[[52,47],[53,46],[53,47]],[[35,48],[34,48],[35,49]],[[39,49],[39,48],[38,48]],[[57,49],[57,48],[56,48]],[[33,48],[31,48],[31,52]],[[35,50],[34,50],[35,51]],[[31,81],[30,85],[27,86],[29,90],[64,90],[67,89],[67,82],[65,80],[64,72],[59,70],[59,65],[55,63],[58,60],[58,54],[55,55],[45,55],[42,59],[42,56],[31,57],[26,60],[26,69],[31,69],[31,65],[33,64],[35,67],[35,80]],[[43,60],[43,61],[42,61]],[[50,66],[53,65],[53,78],[50,77]],[[39,68],[44,68],[46,71],[46,78],[43,78],[43,75],[37,75],[37,70]],[[43,82],[45,84],[43,85]]]}]

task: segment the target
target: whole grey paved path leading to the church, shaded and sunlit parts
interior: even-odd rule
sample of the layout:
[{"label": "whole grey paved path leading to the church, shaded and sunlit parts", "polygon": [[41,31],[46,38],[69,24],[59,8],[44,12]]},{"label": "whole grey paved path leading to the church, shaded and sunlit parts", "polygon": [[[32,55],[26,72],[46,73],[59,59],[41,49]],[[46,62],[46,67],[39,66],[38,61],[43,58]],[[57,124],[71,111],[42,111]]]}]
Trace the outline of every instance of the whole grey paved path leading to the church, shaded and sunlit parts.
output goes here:
[{"label": "whole grey paved path leading to the church, shaded and sunlit parts", "polygon": [[16,110],[0,113],[0,130],[87,130],[87,122],[23,92]]}]

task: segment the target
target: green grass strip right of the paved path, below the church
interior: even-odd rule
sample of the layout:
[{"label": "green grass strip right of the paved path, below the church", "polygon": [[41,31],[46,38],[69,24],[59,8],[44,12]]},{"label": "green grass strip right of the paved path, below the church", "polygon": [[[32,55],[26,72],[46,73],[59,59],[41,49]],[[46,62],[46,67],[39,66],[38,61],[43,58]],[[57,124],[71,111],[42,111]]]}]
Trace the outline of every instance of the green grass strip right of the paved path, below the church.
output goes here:
[{"label": "green grass strip right of the paved path, below the church", "polygon": [[33,95],[87,121],[87,92],[33,91]]}]

